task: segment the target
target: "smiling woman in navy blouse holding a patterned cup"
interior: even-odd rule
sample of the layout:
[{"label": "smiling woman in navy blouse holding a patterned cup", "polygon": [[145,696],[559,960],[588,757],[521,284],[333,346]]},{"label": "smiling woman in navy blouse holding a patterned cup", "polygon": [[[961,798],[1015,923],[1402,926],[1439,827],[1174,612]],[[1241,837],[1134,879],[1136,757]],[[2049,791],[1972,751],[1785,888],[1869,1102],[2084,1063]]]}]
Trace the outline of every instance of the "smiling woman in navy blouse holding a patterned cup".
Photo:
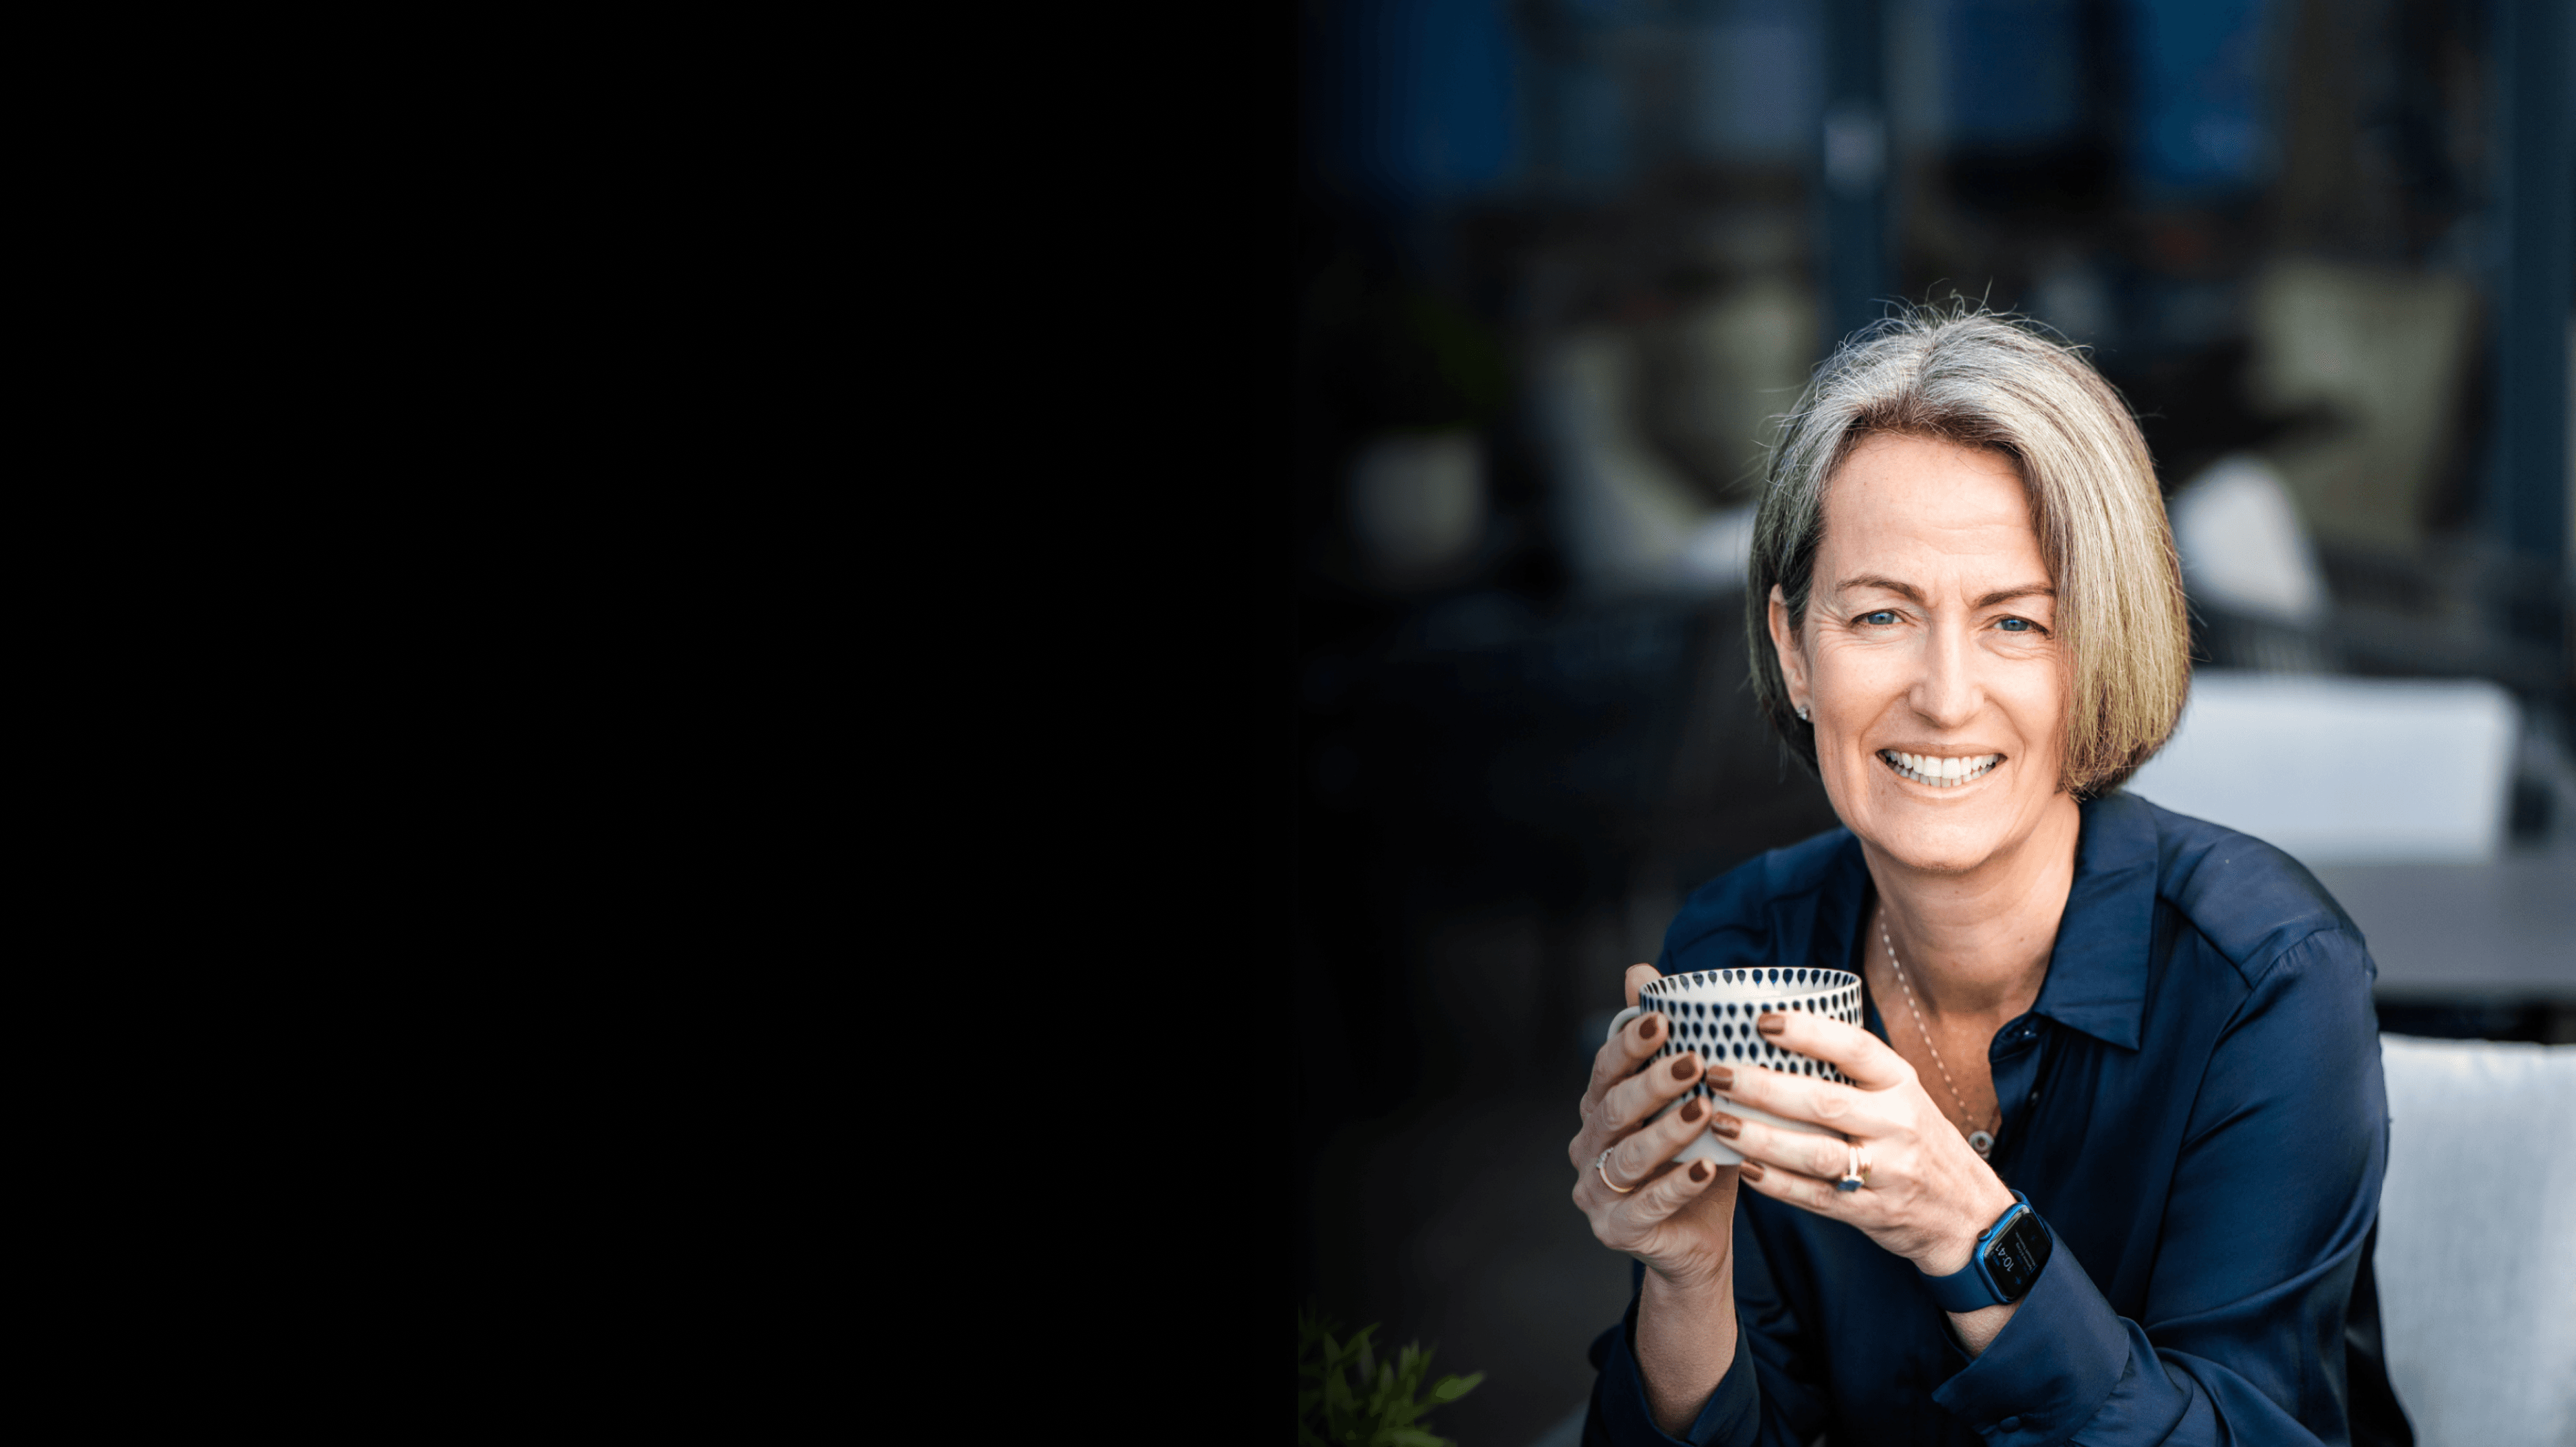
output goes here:
[{"label": "smiling woman in navy blouse holding a patterned cup", "polygon": [[1757,1022],[1842,1079],[1613,1030],[1569,1159],[1638,1293],[1587,1442],[2406,1442],[2362,937],[2277,850],[2120,793],[2190,685],[2120,397],[1986,314],[1855,337],[1749,590],[1754,690],[1844,826],[1692,893],[1628,1004],[1824,968],[1865,1027]]}]

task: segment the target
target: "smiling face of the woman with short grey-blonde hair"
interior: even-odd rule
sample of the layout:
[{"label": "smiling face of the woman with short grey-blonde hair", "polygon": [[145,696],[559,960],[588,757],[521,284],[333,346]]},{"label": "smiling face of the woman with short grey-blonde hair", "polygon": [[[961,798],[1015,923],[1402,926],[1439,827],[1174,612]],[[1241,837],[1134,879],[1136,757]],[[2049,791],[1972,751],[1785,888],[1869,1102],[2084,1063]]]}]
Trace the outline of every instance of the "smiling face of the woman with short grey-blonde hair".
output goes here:
[{"label": "smiling face of the woman with short grey-blonde hair", "polygon": [[1965,873],[2061,798],[2056,595],[2012,458],[1875,435],[1824,505],[1806,626],[1770,631],[1834,811],[1896,863]]}]

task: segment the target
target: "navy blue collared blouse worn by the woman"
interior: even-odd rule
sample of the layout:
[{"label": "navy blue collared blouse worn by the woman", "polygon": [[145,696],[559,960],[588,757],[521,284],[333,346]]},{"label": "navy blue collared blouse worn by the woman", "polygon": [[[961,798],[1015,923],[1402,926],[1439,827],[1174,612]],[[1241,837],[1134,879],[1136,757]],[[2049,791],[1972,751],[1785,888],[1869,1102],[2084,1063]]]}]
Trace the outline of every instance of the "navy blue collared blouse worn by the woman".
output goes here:
[{"label": "navy blue collared blouse worn by the woman", "polygon": [[[2259,839],[2123,793],[2081,808],[2040,999],[1986,1050],[1994,1169],[2056,1233],[2040,1280],[1971,1359],[1911,1262],[1741,1190],[1736,1359],[1687,1442],[2411,1439],[2370,1285],[2388,1097],[2362,932]],[[1834,829],[1692,893],[1656,968],[1862,973],[1868,904]],[[1868,1025],[1886,1038],[1875,1002]],[[1584,1442],[1674,1442],[1636,1298],[1592,1362]]]}]

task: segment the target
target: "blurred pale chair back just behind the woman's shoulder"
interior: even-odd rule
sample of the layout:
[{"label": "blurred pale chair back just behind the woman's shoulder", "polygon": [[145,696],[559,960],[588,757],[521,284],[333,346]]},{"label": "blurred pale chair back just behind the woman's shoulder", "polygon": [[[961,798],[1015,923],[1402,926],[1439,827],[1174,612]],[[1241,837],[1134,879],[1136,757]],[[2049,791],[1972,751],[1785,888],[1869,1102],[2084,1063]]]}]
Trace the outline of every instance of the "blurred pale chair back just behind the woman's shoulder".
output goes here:
[{"label": "blurred pale chair back just behind the woman's shoulder", "polygon": [[2130,790],[2300,863],[2470,863],[2504,847],[2519,708],[2483,680],[2200,669]]}]

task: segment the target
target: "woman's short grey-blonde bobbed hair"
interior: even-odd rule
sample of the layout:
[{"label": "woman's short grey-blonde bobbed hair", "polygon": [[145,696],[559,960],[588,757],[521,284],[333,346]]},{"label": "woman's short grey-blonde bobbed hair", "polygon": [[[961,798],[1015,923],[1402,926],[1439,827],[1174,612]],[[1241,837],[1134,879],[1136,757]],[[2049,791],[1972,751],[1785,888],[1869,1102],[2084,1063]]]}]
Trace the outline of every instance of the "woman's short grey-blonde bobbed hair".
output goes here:
[{"label": "woman's short grey-blonde bobbed hair", "polygon": [[1770,590],[1780,587],[1790,628],[1803,631],[1824,492],[1878,433],[2014,461],[2069,659],[2058,785],[2076,798],[2120,788],[2172,736],[2192,687],[2182,566],[2156,463],[2128,402],[2074,348],[1971,306],[1909,309],[1857,332],[1816,368],[1785,420],[1744,579],[1754,698],[1770,726],[1816,767],[1816,729],[1790,708],[1772,651]]}]

